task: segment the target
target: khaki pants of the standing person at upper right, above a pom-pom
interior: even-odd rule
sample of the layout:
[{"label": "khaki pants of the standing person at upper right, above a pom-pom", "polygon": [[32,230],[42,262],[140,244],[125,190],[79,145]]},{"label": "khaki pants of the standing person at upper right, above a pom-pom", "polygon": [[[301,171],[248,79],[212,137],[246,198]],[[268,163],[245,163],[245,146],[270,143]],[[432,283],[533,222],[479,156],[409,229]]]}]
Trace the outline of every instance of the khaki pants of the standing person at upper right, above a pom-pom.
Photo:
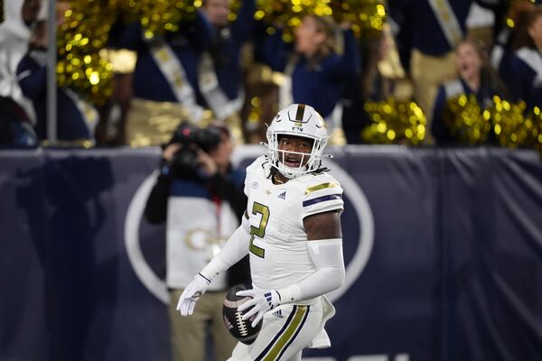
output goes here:
[{"label": "khaki pants of the standing person at upper right, above a pom-pom", "polygon": [[[431,129],[433,106],[438,88],[445,82],[457,78],[455,53],[450,51],[442,57],[434,57],[415,49],[410,59],[410,74],[416,103],[425,113],[427,129]],[[427,137],[426,139],[431,143],[431,140]]]}]

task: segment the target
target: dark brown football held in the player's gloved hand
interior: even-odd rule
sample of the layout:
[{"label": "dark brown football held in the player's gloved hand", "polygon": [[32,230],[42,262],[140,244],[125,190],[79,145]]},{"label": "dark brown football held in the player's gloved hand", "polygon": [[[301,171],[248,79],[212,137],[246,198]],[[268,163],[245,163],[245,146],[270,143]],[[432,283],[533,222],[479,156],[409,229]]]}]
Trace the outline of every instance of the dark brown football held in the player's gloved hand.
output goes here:
[{"label": "dark brown football held in the player's gloved hand", "polygon": [[244,312],[238,311],[238,307],[252,298],[239,297],[236,293],[246,289],[247,288],[243,285],[233,286],[229,289],[229,292],[224,299],[224,305],[222,306],[222,319],[224,320],[226,329],[229,330],[229,333],[234,338],[237,338],[244,344],[250,345],[257,338],[257,334],[262,328],[263,319],[257,323],[255,328],[251,326],[251,323],[256,315],[247,320],[242,319]]}]

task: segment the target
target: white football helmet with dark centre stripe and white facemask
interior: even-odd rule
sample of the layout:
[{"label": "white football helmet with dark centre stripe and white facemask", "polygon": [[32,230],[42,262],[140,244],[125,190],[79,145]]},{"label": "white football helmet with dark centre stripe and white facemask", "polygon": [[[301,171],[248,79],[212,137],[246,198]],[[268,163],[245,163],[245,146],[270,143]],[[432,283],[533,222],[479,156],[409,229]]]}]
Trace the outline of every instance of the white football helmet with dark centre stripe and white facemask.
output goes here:
[{"label": "white football helmet with dark centre stripe and white facemask", "polygon": [[[278,150],[278,138],[280,135],[295,135],[313,140],[311,153],[285,152]],[[286,178],[292,179],[316,171],[322,163],[323,148],[327,144],[328,134],[323,118],[313,106],[304,104],[292,104],[280,110],[271,125],[267,128],[267,145],[269,147],[269,158],[273,166]],[[299,167],[288,167],[285,165],[285,153],[301,154],[309,157],[304,165],[304,159]]]}]

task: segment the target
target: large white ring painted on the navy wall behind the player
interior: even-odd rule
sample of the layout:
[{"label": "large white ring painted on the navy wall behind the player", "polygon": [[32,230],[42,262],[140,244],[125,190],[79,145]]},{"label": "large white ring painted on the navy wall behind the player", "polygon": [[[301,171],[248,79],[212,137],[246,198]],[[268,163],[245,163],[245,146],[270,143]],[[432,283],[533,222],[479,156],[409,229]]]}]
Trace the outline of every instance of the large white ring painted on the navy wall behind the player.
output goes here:
[{"label": "large white ring painted on the navy wall behind the player", "polygon": [[[239,147],[234,154],[233,162],[238,163],[246,159],[255,159],[261,153],[261,147]],[[353,282],[356,282],[369,261],[374,241],[374,221],[369,202],[358,183],[336,162],[332,162],[331,160],[326,160],[324,162],[326,166],[331,168],[330,173],[332,176],[341,183],[344,195],[350,199],[350,203],[353,211],[356,212],[356,218],[358,219],[360,226],[360,237],[357,240],[358,245],[355,254],[346,265],[346,280],[340,289],[328,294],[331,301],[336,301],[348,291]],[[139,224],[145,210],[146,199],[153,189],[157,176],[158,171],[154,171],[150,174],[143,181],[138,190],[136,190],[134,198],[130,202],[125,219],[125,245],[128,259],[139,280],[145,285],[149,292],[153,293],[160,301],[167,304],[170,300],[165,282],[159,278],[150,265],[147,264],[139,243]],[[349,211],[351,210],[349,209]],[[344,231],[346,225],[342,225],[342,227]],[[349,235],[343,234],[343,237],[345,240],[348,240]],[[350,239],[350,241],[352,240]]]}]

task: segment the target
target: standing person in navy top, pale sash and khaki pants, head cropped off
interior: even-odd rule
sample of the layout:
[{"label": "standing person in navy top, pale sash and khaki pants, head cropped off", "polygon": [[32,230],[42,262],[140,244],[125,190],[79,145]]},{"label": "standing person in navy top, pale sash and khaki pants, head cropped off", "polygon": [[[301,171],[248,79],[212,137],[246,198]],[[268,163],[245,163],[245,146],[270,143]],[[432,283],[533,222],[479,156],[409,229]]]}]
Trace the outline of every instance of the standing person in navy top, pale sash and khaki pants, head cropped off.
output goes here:
[{"label": "standing person in navy top, pale sash and khaki pants, head cropped off", "polygon": [[[389,0],[401,62],[409,71],[416,103],[424,110],[429,125],[438,87],[457,77],[453,50],[466,37],[472,5],[488,7],[498,1]],[[431,142],[427,136],[425,143]]]}]

